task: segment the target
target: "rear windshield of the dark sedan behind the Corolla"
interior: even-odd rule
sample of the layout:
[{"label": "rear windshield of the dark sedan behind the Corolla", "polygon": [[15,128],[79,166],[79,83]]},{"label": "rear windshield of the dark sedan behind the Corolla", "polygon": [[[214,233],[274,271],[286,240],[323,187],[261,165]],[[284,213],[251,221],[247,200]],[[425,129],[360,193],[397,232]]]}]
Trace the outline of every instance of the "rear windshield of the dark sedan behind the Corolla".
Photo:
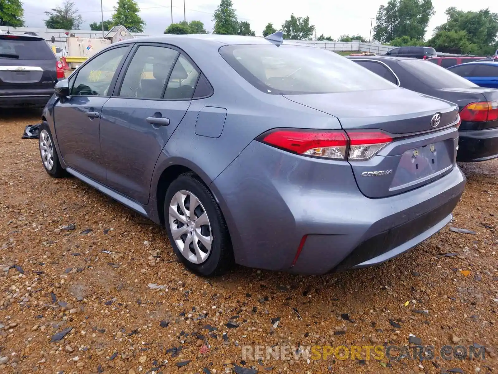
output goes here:
[{"label": "rear windshield of the dark sedan behind the Corolla", "polygon": [[401,60],[398,63],[415,78],[432,88],[479,87],[444,67],[424,60]]}]

